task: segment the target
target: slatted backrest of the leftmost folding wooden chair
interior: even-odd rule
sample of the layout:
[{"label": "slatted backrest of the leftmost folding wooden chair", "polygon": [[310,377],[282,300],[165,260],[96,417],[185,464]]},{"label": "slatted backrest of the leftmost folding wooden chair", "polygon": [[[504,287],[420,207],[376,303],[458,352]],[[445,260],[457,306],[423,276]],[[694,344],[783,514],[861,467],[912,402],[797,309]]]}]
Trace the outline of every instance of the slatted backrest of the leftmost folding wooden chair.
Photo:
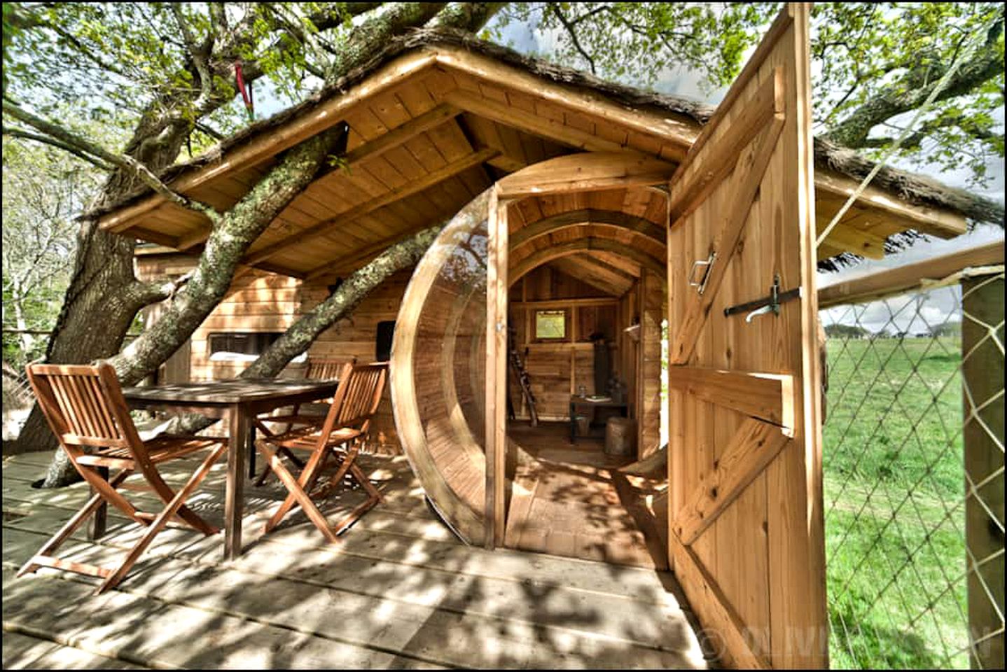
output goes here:
[{"label": "slatted backrest of the leftmost folding wooden chair", "polygon": [[140,444],[111,364],[28,364],[26,371],[52,433],[67,450]]}]

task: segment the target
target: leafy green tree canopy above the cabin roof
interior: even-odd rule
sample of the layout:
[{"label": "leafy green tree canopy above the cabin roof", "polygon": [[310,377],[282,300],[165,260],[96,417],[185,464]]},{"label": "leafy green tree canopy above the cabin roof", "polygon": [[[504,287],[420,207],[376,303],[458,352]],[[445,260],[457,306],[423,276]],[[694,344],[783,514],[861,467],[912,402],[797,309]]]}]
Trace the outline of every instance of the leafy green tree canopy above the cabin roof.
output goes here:
[{"label": "leafy green tree canopy above the cabin roof", "polygon": [[[193,152],[248,122],[235,65],[254,99],[292,104],[337,71],[364,18],[410,3],[7,3],[4,93],[40,116],[135,128],[152,111],[188,123]],[[414,3],[421,4],[421,3]],[[466,3],[422,3],[427,19]],[[483,36],[521,23],[540,54],[644,87],[669,70],[728,85],[779,3],[471,3],[495,17]],[[441,17],[444,18],[443,16]],[[416,22],[414,21],[414,24]],[[890,146],[967,46],[961,64],[900,156],[968,166],[977,183],[1002,158],[1003,7],[999,3],[816,3],[813,58],[818,132],[877,152]],[[265,91],[264,91],[265,90]],[[253,100],[253,103],[255,101]],[[127,147],[128,149],[128,147]]]}]

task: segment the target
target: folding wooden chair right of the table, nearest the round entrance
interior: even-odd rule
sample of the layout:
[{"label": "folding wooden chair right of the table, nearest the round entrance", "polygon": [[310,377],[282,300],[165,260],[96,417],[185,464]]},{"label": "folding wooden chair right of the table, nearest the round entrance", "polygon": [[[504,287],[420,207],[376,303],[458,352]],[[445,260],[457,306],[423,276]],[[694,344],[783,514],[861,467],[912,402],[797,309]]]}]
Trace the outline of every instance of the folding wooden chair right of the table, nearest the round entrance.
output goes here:
[{"label": "folding wooden chair right of the table, nearest the round entrance", "polygon": [[[267,464],[290,491],[286,500],[266,523],[266,532],[276,527],[291,509],[300,506],[321,533],[335,543],[340,532],[382,501],[381,492],[371,484],[355,460],[367,438],[371,418],[381,403],[387,376],[387,363],[356,366],[347,364],[339,374],[339,386],[335,390],[335,398],[320,430],[317,428],[294,430],[284,435],[261,439],[256,443]],[[280,460],[278,451],[281,448],[311,452],[298,478],[294,478]],[[368,494],[367,501],[355,507],[334,526],[329,526],[325,516],[311,501],[309,495],[330,458],[335,458],[339,466],[321,489],[321,496],[328,494],[347,477],[364,488]]]}]

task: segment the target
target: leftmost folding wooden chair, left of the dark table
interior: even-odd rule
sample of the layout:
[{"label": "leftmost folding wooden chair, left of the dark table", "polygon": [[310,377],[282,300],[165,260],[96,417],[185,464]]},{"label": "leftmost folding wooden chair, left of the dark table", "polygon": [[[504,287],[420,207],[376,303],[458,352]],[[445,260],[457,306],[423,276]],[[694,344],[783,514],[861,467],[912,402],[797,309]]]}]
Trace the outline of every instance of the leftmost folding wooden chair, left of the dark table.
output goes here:
[{"label": "leftmost folding wooden chair, left of the dark table", "polygon": [[[98,366],[29,364],[27,373],[52,433],[66,451],[70,463],[91,484],[94,495],[21,567],[18,576],[39,567],[66,569],[103,578],[96,591],[100,594],[115,587],[123,579],[168,519],[177,517],[203,534],[217,533],[215,527],[185,506],[185,500],[228,450],[227,439],[162,435],[151,441],[142,441],[129,414],[115,369],[107,362]],[[173,490],[161,478],[158,465],[204,449],[212,450],[180,490]],[[118,470],[111,479],[108,478],[110,469]],[[119,492],[123,481],[134,472],[142,474],[149,490],[164,502],[161,511],[139,511]],[[130,489],[138,488],[130,486]],[[104,522],[106,503],[111,503],[128,518],[147,527],[119,566],[101,567],[56,557],[59,546],[92,515]],[[97,535],[101,534],[103,526],[97,525]]]}]

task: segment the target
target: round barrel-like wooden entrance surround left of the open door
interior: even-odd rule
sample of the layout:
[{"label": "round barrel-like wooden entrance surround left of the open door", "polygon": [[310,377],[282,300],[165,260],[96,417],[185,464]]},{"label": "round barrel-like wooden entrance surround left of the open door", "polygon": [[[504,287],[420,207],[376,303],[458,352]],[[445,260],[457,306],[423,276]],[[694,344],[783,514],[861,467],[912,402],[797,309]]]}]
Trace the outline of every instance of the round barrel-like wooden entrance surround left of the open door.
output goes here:
[{"label": "round barrel-like wooden entrance surround left of the open door", "polygon": [[[510,293],[557,263],[612,292],[663,283],[667,200],[652,186],[673,169],[592,153],[530,166],[463,208],[417,267],[393,348],[396,423],[428,498],[466,542],[503,544],[513,478],[529,460],[507,435]],[[663,295],[655,303],[660,313]]]}]

